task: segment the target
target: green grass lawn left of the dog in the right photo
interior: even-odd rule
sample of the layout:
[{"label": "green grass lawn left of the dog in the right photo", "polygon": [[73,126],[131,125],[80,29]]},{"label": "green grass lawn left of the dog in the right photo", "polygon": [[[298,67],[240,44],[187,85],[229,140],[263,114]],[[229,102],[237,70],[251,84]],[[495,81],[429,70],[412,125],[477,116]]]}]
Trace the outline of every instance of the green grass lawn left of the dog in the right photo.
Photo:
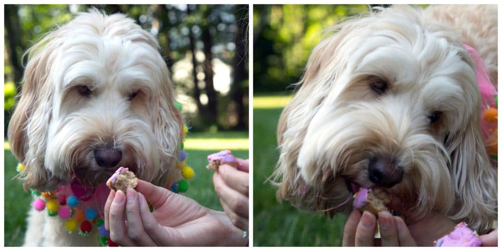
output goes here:
[{"label": "green grass lawn left of the dog in the right photo", "polygon": [[[265,104],[260,103],[261,98]],[[254,245],[255,246],[341,246],[345,215],[329,219],[279,203],[276,189],[266,182],[279,158],[276,128],[289,96],[255,95],[253,103],[254,144]],[[279,107],[278,107],[279,106]]]}]

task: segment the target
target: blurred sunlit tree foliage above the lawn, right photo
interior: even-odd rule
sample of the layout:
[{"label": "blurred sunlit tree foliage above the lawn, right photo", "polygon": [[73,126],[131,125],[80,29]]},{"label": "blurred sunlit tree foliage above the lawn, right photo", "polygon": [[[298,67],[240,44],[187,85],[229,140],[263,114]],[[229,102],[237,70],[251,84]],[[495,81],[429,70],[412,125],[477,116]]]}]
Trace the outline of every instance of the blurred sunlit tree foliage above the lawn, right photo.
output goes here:
[{"label": "blurred sunlit tree foliage above the lawn, right photo", "polygon": [[367,5],[255,5],[255,92],[284,91],[297,82],[323,30],[367,10]]}]

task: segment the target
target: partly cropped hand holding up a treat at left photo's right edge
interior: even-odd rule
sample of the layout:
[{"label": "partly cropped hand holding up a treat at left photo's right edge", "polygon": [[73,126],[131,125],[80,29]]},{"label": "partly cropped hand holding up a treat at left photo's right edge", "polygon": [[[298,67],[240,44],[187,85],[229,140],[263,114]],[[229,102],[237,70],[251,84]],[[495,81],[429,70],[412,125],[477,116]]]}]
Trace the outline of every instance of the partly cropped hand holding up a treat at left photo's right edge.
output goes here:
[{"label": "partly cropped hand holding up a treat at left photo's right edge", "polygon": [[216,194],[228,218],[247,231],[249,225],[249,161],[237,158],[237,169],[221,165],[213,175]]}]

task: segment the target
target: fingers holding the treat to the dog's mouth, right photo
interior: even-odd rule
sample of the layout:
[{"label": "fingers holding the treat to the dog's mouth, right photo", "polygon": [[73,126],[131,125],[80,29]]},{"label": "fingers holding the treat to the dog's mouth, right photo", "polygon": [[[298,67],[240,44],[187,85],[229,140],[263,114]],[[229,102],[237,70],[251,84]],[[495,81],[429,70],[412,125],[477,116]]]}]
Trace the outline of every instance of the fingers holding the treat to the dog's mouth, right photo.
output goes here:
[{"label": "fingers holding the treat to the dog's mouth, right photo", "polygon": [[381,239],[374,239],[376,217],[353,210],[345,223],[343,246],[416,246],[404,220],[388,211],[379,212]]}]

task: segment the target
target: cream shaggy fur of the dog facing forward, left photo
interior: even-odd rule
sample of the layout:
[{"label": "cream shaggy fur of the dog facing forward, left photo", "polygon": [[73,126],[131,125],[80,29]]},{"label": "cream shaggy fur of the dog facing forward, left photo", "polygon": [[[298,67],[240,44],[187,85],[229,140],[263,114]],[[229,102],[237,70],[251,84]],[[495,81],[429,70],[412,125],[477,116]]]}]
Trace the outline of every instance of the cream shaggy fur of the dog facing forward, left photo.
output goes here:
[{"label": "cream shaggy fur of the dog facing forward, left photo", "polygon": [[[183,122],[152,35],[124,15],[91,10],[27,54],[23,91],[9,124],[11,151],[26,166],[20,174],[25,189],[50,191],[73,175],[92,188],[120,166],[155,185],[179,179],[174,170]],[[122,152],[114,167],[96,163],[94,151],[105,146]],[[78,234],[58,232],[64,228],[57,219],[31,214],[28,244],[79,242],[73,241]],[[37,231],[57,238],[35,240],[30,234]]]}]

